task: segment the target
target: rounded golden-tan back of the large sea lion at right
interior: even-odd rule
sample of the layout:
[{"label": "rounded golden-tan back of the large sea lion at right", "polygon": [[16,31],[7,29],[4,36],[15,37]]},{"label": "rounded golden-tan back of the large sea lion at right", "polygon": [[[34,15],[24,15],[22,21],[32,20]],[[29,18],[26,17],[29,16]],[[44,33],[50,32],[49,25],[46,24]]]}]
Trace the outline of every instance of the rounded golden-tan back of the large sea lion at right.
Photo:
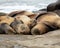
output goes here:
[{"label": "rounded golden-tan back of the large sea lion at right", "polygon": [[53,23],[56,18],[59,18],[59,15],[57,15],[56,13],[53,13],[53,12],[48,12],[46,14],[39,16],[37,18],[37,22],[48,21],[48,22]]}]

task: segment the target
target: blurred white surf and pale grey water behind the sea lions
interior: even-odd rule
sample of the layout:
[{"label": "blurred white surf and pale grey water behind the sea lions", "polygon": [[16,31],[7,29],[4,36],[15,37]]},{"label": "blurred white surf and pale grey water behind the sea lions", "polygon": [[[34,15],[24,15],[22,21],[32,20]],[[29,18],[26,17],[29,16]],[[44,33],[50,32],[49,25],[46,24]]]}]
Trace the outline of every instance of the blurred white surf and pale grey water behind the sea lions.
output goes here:
[{"label": "blurred white surf and pale grey water behind the sea lions", "polygon": [[16,10],[37,11],[46,8],[57,0],[0,0],[0,12],[12,12]]}]

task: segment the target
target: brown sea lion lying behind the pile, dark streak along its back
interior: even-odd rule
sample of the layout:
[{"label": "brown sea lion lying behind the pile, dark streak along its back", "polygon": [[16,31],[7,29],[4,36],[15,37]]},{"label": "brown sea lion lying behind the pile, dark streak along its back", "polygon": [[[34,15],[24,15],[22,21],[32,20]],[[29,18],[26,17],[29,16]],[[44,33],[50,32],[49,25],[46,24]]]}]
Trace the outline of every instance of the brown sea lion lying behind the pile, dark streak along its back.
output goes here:
[{"label": "brown sea lion lying behind the pile, dark streak along its back", "polygon": [[17,16],[17,15],[26,15],[30,18],[34,18],[38,14],[35,14],[33,12],[29,12],[29,11],[14,11],[14,12],[9,13],[8,16],[14,17],[14,16]]}]

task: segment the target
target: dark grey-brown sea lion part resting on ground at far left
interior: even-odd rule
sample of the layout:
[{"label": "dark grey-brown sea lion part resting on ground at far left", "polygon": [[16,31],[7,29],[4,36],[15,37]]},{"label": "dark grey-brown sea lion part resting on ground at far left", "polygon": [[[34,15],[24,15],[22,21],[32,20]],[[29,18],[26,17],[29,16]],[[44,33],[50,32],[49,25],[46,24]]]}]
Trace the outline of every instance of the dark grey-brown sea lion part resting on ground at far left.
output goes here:
[{"label": "dark grey-brown sea lion part resting on ground at far left", "polygon": [[16,32],[6,23],[0,24],[0,34],[15,34]]}]

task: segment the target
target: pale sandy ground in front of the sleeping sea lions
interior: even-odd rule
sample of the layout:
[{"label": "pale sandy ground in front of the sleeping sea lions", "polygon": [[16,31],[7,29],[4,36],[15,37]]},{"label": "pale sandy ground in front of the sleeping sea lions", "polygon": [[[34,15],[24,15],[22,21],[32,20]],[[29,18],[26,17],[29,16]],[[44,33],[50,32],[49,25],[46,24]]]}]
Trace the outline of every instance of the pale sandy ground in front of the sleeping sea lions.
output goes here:
[{"label": "pale sandy ground in front of the sleeping sea lions", "polygon": [[60,30],[43,35],[0,35],[0,48],[60,48]]}]

